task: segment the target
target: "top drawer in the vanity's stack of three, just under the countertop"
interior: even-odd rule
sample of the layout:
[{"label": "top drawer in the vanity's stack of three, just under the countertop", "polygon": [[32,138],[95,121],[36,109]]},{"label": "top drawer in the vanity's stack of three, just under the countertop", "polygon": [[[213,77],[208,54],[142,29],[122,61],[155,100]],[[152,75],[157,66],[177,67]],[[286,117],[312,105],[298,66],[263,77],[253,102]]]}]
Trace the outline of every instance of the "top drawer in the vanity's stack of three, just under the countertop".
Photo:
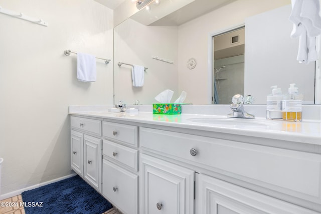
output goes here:
[{"label": "top drawer in the vanity's stack of three, just under the countertop", "polygon": [[102,134],[111,140],[137,147],[137,126],[104,121]]}]

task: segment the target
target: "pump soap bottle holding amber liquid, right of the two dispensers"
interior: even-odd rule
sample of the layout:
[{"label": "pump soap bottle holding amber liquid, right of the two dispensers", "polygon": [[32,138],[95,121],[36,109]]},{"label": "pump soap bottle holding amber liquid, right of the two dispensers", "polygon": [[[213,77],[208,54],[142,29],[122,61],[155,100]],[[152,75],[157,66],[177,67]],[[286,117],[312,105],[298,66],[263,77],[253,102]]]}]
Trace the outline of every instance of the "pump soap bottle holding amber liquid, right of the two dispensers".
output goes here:
[{"label": "pump soap bottle holding amber liquid, right of the two dispensers", "polygon": [[282,101],[282,119],[301,121],[302,120],[302,99],[303,95],[298,93],[295,84],[290,84],[288,94],[285,94]]}]

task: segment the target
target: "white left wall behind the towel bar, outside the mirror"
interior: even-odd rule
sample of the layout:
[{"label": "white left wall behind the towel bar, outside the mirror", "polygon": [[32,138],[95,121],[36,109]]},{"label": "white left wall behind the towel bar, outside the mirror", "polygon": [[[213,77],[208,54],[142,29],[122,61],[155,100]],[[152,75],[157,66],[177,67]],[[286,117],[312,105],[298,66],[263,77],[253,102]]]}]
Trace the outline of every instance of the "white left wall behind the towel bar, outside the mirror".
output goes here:
[{"label": "white left wall behind the towel bar, outside the mirror", "polygon": [[0,14],[2,194],[71,173],[72,104],[112,104],[113,64],[97,60],[97,82],[76,80],[71,49],[112,59],[113,12],[92,0],[0,0],[4,9],[48,27]]}]

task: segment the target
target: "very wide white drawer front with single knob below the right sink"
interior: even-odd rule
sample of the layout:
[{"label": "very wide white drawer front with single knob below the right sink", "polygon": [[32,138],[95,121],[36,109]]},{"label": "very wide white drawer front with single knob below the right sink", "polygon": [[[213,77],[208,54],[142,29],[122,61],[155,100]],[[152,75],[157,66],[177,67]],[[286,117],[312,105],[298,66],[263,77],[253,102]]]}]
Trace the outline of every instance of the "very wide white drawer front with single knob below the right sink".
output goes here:
[{"label": "very wide white drawer front with single knob below the right sink", "polygon": [[321,204],[319,154],[150,128],[139,133],[141,147],[153,153]]}]

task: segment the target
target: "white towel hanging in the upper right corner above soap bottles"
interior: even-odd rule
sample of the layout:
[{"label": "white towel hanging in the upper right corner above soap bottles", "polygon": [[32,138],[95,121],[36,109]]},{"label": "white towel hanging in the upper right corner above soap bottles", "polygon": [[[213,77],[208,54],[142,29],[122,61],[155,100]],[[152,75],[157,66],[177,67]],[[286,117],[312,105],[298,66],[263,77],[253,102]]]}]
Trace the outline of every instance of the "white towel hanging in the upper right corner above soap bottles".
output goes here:
[{"label": "white towel hanging in the upper right corner above soap bottles", "polygon": [[315,37],[321,34],[319,1],[291,0],[292,12],[289,20],[293,22],[291,37],[299,37],[297,60],[308,64],[317,59]]}]

